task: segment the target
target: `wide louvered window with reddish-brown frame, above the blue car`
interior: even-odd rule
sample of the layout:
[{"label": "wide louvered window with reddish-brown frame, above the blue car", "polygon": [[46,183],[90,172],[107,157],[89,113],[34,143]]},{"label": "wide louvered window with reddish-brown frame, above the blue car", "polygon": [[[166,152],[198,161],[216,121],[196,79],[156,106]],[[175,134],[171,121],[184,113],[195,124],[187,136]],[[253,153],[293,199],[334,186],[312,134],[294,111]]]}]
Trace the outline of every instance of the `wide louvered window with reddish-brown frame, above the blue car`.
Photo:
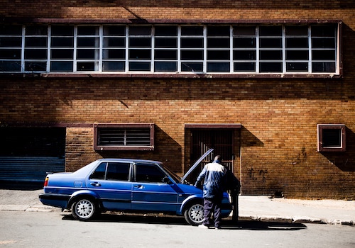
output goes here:
[{"label": "wide louvered window with reddish-brown frame, above the blue car", "polygon": [[154,150],[154,124],[94,124],[94,150]]}]

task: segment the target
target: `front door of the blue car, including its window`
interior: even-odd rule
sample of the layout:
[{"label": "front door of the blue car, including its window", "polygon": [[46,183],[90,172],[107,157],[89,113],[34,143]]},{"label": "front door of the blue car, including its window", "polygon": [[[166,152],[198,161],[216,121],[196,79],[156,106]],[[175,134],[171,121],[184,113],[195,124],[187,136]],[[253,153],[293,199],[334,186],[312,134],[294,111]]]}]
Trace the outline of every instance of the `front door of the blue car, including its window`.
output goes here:
[{"label": "front door of the blue car, including its window", "polygon": [[[133,210],[175,212],[178,208],[178,193],[167,174],[153,163],[134,164],[132,183]],[[168,179],[168,180],[167,180]]]}]

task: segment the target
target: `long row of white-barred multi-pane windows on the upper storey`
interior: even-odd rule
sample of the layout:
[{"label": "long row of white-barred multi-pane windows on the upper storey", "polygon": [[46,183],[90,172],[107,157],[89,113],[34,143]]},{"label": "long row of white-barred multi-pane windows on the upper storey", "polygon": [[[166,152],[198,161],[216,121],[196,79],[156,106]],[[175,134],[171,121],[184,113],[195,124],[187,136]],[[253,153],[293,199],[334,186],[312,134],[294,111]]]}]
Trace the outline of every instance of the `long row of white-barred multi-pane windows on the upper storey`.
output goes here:
[{"label": "long row of white-barred multi-pane windows on the upper storey", "polygon": [[0,72],[337,73],[338,28],[0,26]]}]

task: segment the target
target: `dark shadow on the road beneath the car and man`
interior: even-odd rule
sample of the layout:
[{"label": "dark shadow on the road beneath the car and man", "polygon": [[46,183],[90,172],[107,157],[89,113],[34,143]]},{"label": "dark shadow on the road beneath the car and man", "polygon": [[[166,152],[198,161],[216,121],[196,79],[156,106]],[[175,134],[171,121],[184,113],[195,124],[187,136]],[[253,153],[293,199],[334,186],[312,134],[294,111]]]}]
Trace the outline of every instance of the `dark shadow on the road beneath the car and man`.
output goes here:
[{"label": "dark shadow on the road beneath the car and man", "polygon": [[[62,220],[75,220],[69,213],[63,213]],[[92,222],[129,222],[141,224],[158,225],[188,225],[185,219],[179,216],[170,215],[136,215],[136,214],[102,214],[97,216]],[[232,220],[222,220],[222,229],[224,230],[285,230],[297,231],[307,229],[302,223],[284,223],[284,222],[261,222],[252,220],[241,220],[234,222]]]}]

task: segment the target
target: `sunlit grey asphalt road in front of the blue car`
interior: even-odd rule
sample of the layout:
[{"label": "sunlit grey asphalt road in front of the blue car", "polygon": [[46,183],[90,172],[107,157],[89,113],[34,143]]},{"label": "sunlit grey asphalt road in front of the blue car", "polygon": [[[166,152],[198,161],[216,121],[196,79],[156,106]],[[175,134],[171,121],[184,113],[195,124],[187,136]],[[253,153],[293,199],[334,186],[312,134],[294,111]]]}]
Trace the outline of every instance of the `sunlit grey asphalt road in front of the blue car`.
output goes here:
[{"label": "sunlit grey asphalt road in front of the blue car", "polygon": [[102,215],[92,222],[70,213],[0,211],[0,247],[355,247],[355,227],[224,221],[222,230],[183,218]]}]

